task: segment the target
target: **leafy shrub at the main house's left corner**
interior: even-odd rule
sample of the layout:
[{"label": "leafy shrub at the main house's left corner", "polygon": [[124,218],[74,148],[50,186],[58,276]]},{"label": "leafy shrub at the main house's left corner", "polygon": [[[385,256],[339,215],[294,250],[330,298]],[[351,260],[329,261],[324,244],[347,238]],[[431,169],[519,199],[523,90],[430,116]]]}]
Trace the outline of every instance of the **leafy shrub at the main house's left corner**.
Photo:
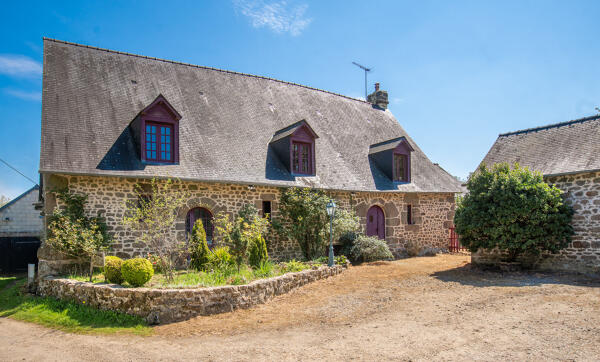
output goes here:
[{"label": "leafy shrub at the main house's left corner", "polygon": [[85,215],[87,195],[74,194],[66,188],[55,193],[62,207],[49,217],[45,242],[70,257],[89,260],[92,281],[94,257],[110,245],[106,223],[100,216]]}]

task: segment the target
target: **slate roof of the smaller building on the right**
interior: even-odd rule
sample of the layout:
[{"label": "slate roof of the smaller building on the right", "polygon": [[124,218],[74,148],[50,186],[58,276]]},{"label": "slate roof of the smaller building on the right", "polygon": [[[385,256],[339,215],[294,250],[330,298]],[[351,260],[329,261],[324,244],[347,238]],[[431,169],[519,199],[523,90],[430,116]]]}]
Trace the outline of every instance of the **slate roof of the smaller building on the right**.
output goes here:
[{"label": "slate roof of the smaller building on the right", "polygon": [[504,133],[483,159],[518,162],[546,176],[600,170],[600,115]]}]

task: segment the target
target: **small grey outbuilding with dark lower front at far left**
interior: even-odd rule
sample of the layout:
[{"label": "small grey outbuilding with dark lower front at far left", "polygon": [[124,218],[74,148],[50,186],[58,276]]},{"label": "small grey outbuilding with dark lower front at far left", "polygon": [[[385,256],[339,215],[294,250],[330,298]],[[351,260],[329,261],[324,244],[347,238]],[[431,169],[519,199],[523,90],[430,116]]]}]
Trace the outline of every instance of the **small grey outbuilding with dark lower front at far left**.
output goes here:
[{"label": "small grey outbuilding with dark lower front at far left", "polygon": [[43,220],[36,210],[39,186],[0,206],[0,270],[23,270],[37,261]]}]

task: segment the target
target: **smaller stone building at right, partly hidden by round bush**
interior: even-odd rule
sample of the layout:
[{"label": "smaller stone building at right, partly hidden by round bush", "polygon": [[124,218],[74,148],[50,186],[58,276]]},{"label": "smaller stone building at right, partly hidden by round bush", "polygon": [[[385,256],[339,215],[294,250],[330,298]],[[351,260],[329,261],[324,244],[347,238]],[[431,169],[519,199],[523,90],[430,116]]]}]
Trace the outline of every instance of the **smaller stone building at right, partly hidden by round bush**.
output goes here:
[{"label": "smaller stone building at right, partly hidden by round bush", "polygon": [[[542,269],[600,271],[600,115],[504,133],[483,159],[518,162],[539,171],[564,192],[572,205],[572,243],[558,255],[545,255]],[[497,255],[477,253],[474,262],[492,263]]]}]

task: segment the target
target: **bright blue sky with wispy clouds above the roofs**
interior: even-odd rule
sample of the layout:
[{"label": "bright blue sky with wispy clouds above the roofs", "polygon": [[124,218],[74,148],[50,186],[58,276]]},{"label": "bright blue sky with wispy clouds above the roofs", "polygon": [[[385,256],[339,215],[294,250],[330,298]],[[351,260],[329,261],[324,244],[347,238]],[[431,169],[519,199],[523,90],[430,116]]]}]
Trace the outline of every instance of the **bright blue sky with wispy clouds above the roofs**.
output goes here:
[{"label": "bright blue sky with wispy clouds above the roofs", "polygon": [[[0,158],[38,178],[42,37],[362,97],[373,67],[433,162],[465,178],[497,135],[600,106],[599,1],[11,1]],[[0,164],[0,194],[31,183]]]}]

